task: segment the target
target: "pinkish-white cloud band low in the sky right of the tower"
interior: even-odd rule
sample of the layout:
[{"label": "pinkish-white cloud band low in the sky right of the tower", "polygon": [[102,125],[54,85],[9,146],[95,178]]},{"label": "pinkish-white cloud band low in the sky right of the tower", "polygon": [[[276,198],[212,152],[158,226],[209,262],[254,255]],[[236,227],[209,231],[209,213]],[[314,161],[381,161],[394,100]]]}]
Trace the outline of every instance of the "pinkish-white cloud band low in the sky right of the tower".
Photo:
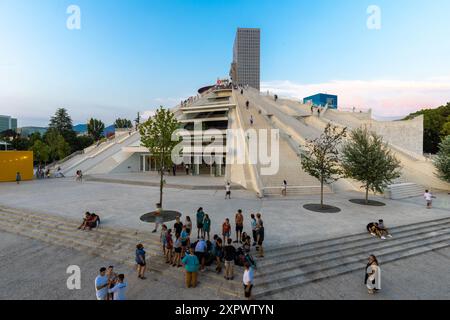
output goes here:
[{"label": "pinkish-white cloud band low in the sky right of the tower", "polygon": [[340,107],[372,109],[375,116],[394,117],[449,102],[450,77],[420,81],[335,80],[317,84],[263,82],[261,91],[267,90],[294,99],[303,99],[316,93],[336,94]]}]

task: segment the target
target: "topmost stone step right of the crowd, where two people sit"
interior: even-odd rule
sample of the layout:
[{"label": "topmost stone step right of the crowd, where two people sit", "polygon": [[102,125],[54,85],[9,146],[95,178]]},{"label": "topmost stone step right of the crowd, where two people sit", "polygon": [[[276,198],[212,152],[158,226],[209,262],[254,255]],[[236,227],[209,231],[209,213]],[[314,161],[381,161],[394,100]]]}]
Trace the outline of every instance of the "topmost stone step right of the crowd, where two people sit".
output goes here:
[{"label": "topmost stone step right of the crowd, where two people sit", "polygon": [[[440,219],[434,219],[434,220],[426,220],[426,221],[420,221],[420,222],[414,222],[402,226],[394,226],[389,227],[389,232],[391,232],[393,235],[398,235],[399,233],[403,231],[408,230],[415,230],[420,229],[424,227],[430,227],[430,226],[436,226],[443,223],[447,223],[450,221],[450,217],[446,218],[440,218]],[[265,255],[266,256],[273,256],[275,257],[278,254],[283,254],[285,252],[298,252],[298,251],[315,251],[321,248],[329,248],[332,246],[339,246],[346,244],[348,242],[353,241],[360,241],[367,239],[368,232],[364,231],[358,234],[354,235],[345,235],[330,239],[324,239],[319,241],[313,241],[309,243],[297,243],[297,244],[282,244],[272,247],[265,248]]]}]

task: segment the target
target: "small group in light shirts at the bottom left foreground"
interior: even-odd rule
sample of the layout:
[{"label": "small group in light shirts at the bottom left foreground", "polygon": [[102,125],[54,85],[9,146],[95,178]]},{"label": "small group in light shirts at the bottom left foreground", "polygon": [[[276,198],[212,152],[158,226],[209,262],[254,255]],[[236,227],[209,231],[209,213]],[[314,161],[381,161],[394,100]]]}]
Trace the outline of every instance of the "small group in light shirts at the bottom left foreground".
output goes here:
[{"label": "small group in light shirts at the bottom left foreground", "polygon": [[127,286],[125,275],[115,273],[114,266],[102,267],[95,278],[97,300],[126,300]]}]

